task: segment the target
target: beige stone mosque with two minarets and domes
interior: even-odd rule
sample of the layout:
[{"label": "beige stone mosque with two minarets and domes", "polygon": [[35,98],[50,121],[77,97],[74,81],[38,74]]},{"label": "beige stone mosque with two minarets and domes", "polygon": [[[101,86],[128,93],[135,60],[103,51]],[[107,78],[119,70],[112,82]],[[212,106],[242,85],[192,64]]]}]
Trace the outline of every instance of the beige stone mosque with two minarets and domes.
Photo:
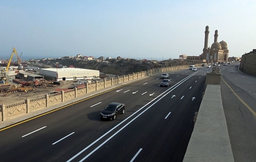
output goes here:
[{"label": "beige stone mosque with two minarets and domes", "polygon": [[199,56],[180,55],[179,60],[191,60],[206,63],[227,62],[229,58],[229,49],[225,41],[222,40],[218,42],[218,30],[215,30],[214,42],[211,44],[211,47],[208,45],[210,33],[209,26],[206,26],[204,33],[203,53]]}]

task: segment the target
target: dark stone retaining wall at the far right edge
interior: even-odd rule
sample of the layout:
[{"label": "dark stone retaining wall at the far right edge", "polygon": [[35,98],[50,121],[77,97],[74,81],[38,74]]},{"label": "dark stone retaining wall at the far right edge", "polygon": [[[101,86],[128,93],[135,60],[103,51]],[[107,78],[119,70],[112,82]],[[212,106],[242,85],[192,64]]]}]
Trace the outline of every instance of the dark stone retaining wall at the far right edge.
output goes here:
[{"label": "dark stone retaining wall at the far right edge", "polygon": [[242,55],[239,70],[246,74],[256,76],[256,49]]}]

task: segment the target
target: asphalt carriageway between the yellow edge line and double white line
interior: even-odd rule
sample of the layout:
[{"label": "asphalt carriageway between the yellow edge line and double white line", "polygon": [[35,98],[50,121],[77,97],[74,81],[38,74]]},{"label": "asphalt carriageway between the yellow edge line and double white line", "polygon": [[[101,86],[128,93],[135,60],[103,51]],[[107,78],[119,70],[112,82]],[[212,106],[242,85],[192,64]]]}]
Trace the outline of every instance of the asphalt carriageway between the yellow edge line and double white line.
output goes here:
[{"label": "asphalt carriageway between the yellow edge line and double white line", "polygon": [[[181,70],[171,73],[170,77],[175,84],[189,74],[193,72]],[[1,131],[2,160],[66,161],[166,91],[168,88],[158,87],[158,77],[119,87]],[[99,112],[106,104],[114,101],[126,104],[125,114],[120,115],[116,121],[100,121]]]}]

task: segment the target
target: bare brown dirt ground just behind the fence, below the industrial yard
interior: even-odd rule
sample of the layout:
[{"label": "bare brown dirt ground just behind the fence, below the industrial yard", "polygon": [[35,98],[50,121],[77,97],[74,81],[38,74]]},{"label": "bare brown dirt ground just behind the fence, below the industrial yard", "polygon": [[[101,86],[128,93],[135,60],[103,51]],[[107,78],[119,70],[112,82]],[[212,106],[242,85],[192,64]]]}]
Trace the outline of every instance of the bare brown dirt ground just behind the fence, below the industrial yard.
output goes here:
[{"label": "bare brown dirt ground just behind the fence, below the industrial yard", "polygon": [[56,88],[74,88],[77,85],[73,81],[62,81],[61,85],[56,85],[55,87],[41,87],[35,88],[34,90],[28,92],[12,92],[3,93],[0,92],[0,104],[4,105],[14,104],[17,102],[24,101],[26,98],[33,99],[37,97],[44,96],[46,93],[53,92]]}]

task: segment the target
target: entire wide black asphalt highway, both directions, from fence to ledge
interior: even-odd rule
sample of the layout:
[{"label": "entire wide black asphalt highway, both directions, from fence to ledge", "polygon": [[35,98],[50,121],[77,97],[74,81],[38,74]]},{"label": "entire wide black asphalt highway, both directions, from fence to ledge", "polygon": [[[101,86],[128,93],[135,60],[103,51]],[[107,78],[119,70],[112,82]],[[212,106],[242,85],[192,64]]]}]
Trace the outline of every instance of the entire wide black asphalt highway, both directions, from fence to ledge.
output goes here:
[{"label": "entire wide black asphalt highway, both directions, from fence to ledge", "polygon": [[[1,131],[1,161],[182,161],[210,71],[170,72],[170,87],[155,75]],[[101,121],[109,102],[125,114]]]}]

